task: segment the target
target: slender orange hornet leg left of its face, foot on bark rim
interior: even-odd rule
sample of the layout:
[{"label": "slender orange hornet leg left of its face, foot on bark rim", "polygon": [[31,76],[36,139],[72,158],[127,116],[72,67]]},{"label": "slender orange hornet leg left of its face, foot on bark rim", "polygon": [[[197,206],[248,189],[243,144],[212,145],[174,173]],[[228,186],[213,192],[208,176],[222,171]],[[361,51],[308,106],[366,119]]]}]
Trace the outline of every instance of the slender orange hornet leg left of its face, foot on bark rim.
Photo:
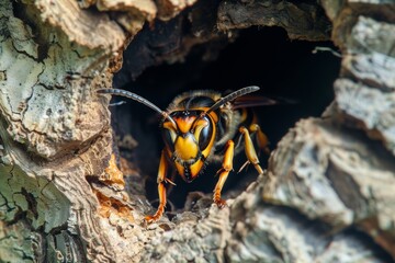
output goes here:
[{"label": "slender orange hornet leg left of its face, foot on bark rim", "polygon": [[168,181],[166,179],[167,171],[168,171],[168,162],[166,160],[165,150],[162,150],[161,156],[160,156],[160,162],[159,162],[159,169],[158,169],[158,179],[157,179],[158,194],[159,194],[159,206],[158,206],[157,211],[153,216],[146,216],[145,217],[145,220],[147,222],[157,221],[163,215],[165,207],[166,207],[165,182]]}]

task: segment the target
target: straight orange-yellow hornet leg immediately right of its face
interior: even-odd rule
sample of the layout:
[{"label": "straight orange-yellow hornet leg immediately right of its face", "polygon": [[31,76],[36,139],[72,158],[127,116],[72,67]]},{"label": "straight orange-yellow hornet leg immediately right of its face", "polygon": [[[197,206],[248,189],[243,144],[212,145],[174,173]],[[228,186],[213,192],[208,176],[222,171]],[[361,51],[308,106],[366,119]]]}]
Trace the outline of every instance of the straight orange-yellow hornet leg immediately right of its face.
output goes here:
[{"label": "straight orange-yellow hornet leg immediately right of its face", "polygon": [[221,198],[221,191],[225,184],[225,181],[233,170],[233,159],[234,159],[234,151],[235,151],[235,144],[233,140],[228,140],[225,146],[225,155],[224,160],[222,163],[222,168],[218,170],[219,179],[217,184],[214,188],[214,203],[219,207],[223,208],[226,205],[226,202]]}]

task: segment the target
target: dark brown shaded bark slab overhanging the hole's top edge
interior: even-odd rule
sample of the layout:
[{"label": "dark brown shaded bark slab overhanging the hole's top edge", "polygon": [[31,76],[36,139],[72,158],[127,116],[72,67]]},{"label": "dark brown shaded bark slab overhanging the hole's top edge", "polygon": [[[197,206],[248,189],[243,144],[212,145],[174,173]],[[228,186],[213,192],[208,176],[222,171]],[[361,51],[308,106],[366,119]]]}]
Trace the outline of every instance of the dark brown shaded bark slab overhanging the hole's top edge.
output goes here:
[{"label": "dark brown shaded bark slab overhanging the hole's top edge", "polygon": [[251,25],[284,27],[292,39],[328,38],[330,23],[324,10],[308,2],[292,1],[222,1],[218,30],[246,28]]}]

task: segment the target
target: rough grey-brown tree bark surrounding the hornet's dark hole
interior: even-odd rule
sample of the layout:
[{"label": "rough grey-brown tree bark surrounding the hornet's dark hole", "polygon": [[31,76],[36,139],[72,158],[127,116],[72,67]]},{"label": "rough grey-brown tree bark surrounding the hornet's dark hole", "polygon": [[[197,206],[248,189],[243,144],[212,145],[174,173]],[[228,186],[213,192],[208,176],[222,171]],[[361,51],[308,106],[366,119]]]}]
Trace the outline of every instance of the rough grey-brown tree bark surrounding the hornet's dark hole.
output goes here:
[{"label": "rough grey-brown tree bark surrounding the hornet's dark hole", "polygon": [[321,7],[221,1],[210,9],[215,20],[206,25],[202,10],[208,3],[200,1],[183,13],[190,32],[166,24],[176,36],[184,34],[176,47],[159,45],[171,43],[168,37],[139,41],[137,47],[163,48],[137,48],[154,58],[136,75],[251,25],[280,25],[291,38],[327,39],[325,11],[342,53],[334,103],[321,118],[300,121],[271,155],[268,171],[228,207],[219,210],[201,197],[171,221],[142,224],[151,207],[136,171],[123,165],[128,175],[123,179],[110,159],[109,98],[95,89],[111,87],[123,48],[134,44],[144,23],[174,18],[194,2],[0,3],[0,261],[395,259],[395,8],[390,1],[323,0]]}]

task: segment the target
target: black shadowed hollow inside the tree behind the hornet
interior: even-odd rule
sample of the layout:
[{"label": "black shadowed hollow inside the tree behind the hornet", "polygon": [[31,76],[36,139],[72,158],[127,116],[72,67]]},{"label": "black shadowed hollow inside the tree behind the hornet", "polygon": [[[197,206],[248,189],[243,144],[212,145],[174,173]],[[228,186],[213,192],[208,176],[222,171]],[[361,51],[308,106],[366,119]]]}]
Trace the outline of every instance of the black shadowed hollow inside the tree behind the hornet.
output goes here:
[{"label": "black shadowed hollow inside the tree behind the hornet", "polygon": [[[271,149],[274,149],[295,122],[304,117],[319,116],[332,101],[332,83],[339,73],[340,59],[331,53],[313,54],[316,46],[336,49],[329,42],[290,41],[280,27],[252,27],[242,31],[236,42],[224,48],[215,61],[202,61],[204,47],[198,46],[183,64],[149,68],[136,81],[122,88],[165,110],[182,91],[226,91],[259,85],[259,95],[297,102],[256,110],[260,125],[271,141]],[[146,187],[147,195],[149,199],[156,199],[156,175],[162,148],[159,117],[150,108],[132,101],[113,107],[113,114],[116,132],[121,136],[132,134],[138,141],[136,149],[121,153],[137,163],[143,174],[149,175],[151,180]],[[235,172],[229,174],[223,193],[237,185],[242,188],[257,176],[252,167],[247,173],[236,173],[245,160],[242,152],[236,157]],[[267,167],[267,160],[268,157],[261,158],[262,168]],[[182,207],[191,191],[212,193],[217,181],[214,175],[219,165],[210,165],[204,174],[190,184],[177,176],[177,186],[171,191],[169,201],[177,207]]]}]

